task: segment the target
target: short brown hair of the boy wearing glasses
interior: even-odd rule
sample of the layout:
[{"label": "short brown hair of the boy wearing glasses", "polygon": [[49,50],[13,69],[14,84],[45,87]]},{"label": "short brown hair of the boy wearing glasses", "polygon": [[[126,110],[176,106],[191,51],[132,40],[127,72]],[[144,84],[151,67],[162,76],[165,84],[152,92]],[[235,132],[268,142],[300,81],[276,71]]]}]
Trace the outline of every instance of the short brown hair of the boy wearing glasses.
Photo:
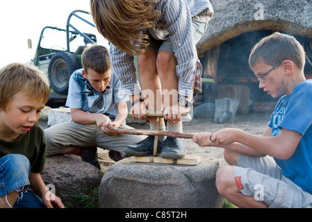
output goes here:
[{"label": "short brown hair of the boy wearing glasses", "polygon": [[249,67],[263,61],[267,65],[276,65],[284,60],[292,60],[297,67],[304,70],[306,63],[302,45],[291,35],[273,33],[258,42],[249,56]]}]

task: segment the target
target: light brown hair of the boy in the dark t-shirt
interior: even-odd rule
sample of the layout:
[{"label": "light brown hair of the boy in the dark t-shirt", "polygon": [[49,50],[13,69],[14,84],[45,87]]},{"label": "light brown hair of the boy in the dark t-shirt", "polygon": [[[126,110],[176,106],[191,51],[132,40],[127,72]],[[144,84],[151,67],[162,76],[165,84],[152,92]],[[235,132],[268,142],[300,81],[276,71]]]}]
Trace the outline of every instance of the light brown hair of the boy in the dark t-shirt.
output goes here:
[{"label": "light brown hair of the boy in the dark t-shirt", "polygon": [[0,107],[5,110],[17,93],[47,103],[49,80],[37,67],[12,63],[0,70]]}]

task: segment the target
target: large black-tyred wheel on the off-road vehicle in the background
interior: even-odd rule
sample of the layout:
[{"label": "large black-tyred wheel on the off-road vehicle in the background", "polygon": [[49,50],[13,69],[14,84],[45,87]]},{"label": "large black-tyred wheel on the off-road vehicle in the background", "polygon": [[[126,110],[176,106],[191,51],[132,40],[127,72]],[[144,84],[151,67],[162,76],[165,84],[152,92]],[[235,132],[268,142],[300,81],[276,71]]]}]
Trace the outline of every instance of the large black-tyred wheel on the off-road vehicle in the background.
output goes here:
[{"label": "large black-tyred wheel on the off-road vehicle in the background", "polygon": [[60,52],[51,58],[48,76],[54,92],[67,94],[69,77],[76,69],[79,69],[79,63],[71,53]]}]

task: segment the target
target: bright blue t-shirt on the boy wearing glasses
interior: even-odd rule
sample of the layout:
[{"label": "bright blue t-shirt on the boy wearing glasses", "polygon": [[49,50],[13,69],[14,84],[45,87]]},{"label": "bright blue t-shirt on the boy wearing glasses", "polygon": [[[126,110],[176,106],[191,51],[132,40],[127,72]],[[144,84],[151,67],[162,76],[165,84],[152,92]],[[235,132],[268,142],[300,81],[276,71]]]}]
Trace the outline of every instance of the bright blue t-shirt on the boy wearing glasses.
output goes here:
[{"label": "bright blue t-shirt on the boy wearing glasses", "polygon": [[272,136],[279,135],[281,128],[302,134],[288,160],[274,160],[284,176],[312,194],[312,80],[299,83],[293,93],[279,99],[268,126]]}]

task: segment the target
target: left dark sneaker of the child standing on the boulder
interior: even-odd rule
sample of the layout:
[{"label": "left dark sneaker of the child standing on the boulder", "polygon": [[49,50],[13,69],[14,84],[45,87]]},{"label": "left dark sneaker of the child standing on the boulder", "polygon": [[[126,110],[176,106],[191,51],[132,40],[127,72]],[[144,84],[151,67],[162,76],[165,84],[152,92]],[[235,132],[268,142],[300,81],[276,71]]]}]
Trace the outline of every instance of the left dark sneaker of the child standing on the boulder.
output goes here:
[{"label": "left dark sneaker of the child standing on the boulder", "polygon": [[[136,144],[126,146],[124,148],[124,153],[138,157],[152,154],[154,153],[154,138],[155,136],[148,136],[147,138],[143,139],[142,141]],[[163,143],[158,140],[157,153],[161,153],[162,149]]]}]

